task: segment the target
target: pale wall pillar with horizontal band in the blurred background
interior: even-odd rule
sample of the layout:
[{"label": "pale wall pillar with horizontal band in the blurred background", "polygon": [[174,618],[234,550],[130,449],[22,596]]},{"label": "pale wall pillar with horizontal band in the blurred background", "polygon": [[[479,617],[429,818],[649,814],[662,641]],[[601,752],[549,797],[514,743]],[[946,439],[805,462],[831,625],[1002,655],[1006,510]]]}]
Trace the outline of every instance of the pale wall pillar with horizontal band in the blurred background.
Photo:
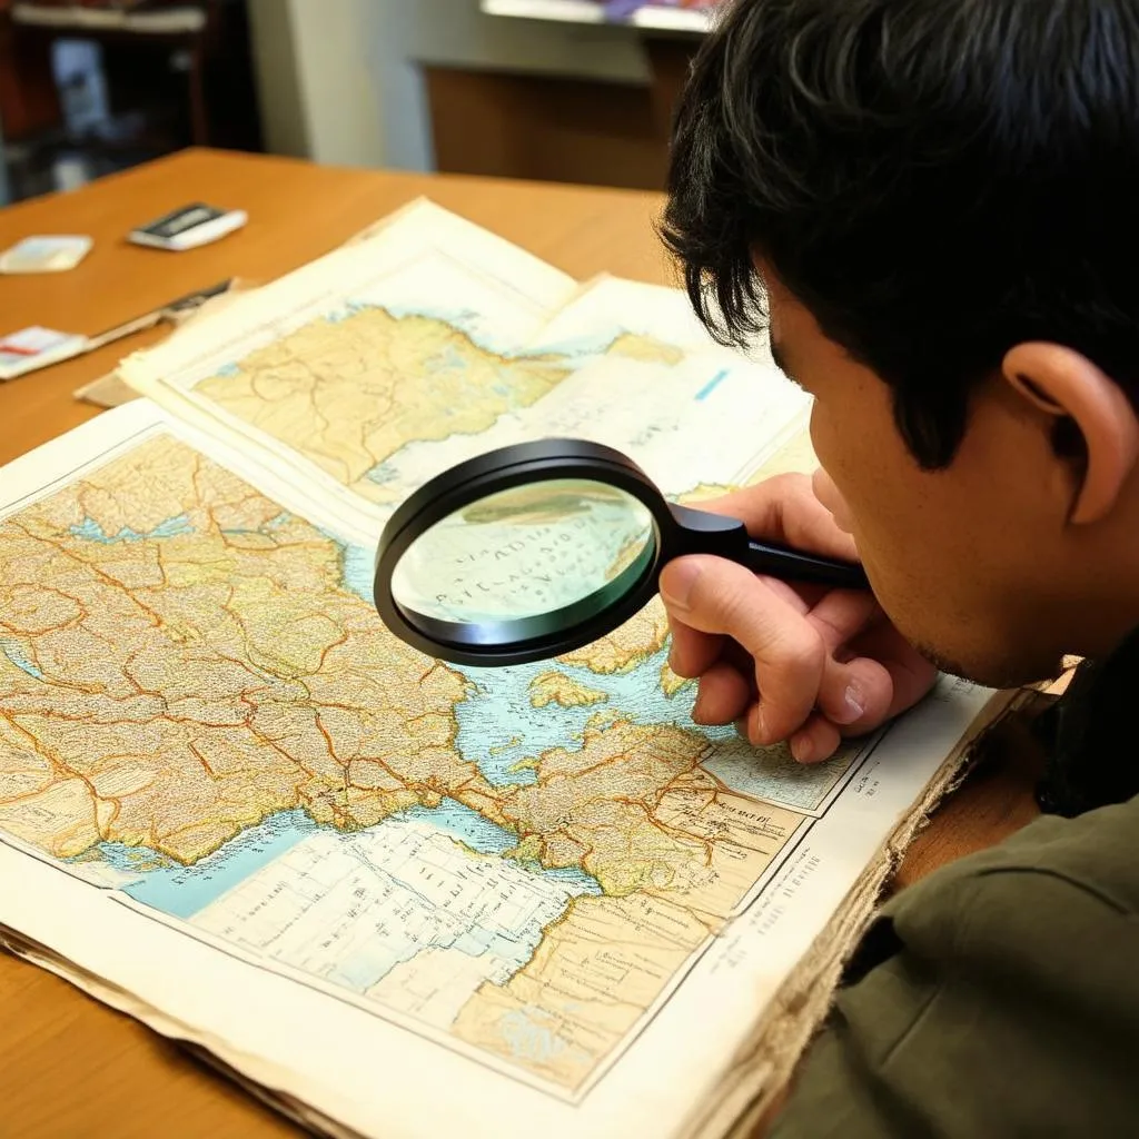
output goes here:
[{"label": "pale wall pillar with horizontal band in the blurred background", "polygon": [[251,0],[270,150],[431,170],[421,64],[648,82],[628,28],[486,16],[478,0]]}]

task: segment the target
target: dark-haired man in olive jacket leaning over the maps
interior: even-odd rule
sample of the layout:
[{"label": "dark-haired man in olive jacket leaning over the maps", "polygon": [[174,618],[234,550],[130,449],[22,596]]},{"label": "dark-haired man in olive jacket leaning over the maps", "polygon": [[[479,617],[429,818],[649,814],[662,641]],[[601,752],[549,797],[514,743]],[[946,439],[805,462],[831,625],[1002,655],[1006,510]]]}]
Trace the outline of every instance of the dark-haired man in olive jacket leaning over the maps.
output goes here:
[{"label": "dark-haired man in olive jacket leaning over the maps", "polygon": [[813,762],[933,663],[1074,654],[1058,746],[1124,772],[886,907],[775,1134],[1139,1134],[1139,2],[738,0],[663,232],[710,328],[769,333],[814,400],[813,484],[722,509],[857,551],[877,603],[673,563],[696,718]]}]

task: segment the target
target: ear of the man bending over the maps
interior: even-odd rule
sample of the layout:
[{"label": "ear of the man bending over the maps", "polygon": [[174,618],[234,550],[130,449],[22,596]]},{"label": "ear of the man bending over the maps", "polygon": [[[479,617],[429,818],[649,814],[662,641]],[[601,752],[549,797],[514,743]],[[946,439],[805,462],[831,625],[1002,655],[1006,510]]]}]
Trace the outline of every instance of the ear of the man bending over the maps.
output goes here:
[{"label": "ear of the man bending over the maps", "polygon": [[1059,344],[1018,344],[1001,370],[1021,395],[1057,419],[1071,419],[1083,437],[1087,468],[1071,521],[1105,517],[1139,461],[1139,418],[1123,388]]}]

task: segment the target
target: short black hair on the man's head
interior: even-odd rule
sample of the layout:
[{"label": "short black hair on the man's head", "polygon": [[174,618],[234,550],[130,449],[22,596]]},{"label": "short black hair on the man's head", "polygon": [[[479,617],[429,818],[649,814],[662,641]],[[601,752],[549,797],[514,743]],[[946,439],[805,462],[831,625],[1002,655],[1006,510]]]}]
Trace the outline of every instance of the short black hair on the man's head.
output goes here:
[{"label": "short black hair on the man's head", "polygon": [[669,194],[713,335],[762,329],[761,259],[892,387],[926,467],[1025,341],[1139,398],[1139,0],[735,0]]}]

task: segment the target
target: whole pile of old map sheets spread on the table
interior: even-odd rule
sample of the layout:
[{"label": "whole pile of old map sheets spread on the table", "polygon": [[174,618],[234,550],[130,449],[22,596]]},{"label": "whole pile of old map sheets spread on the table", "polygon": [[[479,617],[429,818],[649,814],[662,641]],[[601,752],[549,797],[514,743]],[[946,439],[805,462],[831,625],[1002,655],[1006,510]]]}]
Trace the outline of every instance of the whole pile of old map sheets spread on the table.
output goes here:
[{"label": "whole pile of old map sheets spread on the table", "polygon": [[650,605],[460,671],[370,601],[445,466],[581,435],[674,497],[808,461],[671,290],[419,203],[128,360],[0,475],[0,928],[329,1134],[720,1136],[993,714],[796,765],[696,728]]}]

